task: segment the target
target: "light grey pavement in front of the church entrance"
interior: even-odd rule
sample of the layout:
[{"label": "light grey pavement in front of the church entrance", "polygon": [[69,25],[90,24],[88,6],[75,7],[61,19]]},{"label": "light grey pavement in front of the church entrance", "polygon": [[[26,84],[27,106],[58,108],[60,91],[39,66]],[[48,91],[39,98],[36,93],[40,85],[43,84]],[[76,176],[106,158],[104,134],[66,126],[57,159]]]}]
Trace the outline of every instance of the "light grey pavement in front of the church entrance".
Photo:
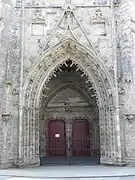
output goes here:
[{"label": "light grey pavement in front of the church entrance", "polygon": [[135,180],[135,167],[42,166],[0,170],[0,180]]}]

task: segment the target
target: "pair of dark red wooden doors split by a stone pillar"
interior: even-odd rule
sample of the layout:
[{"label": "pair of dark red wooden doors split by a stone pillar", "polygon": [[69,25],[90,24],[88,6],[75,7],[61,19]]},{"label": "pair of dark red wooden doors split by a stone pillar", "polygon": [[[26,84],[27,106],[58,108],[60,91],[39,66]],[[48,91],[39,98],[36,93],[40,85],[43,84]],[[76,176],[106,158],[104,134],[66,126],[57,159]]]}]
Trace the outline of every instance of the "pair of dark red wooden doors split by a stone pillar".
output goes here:
[{"label": "pair of dark red wooden doors split by a stone pillar", "polygon": [[48,124],[48,155],[66,156],[89,156],[89,123],[78,120],[72,124],[72,135],[66,138],[65,122],[53,120]]}]

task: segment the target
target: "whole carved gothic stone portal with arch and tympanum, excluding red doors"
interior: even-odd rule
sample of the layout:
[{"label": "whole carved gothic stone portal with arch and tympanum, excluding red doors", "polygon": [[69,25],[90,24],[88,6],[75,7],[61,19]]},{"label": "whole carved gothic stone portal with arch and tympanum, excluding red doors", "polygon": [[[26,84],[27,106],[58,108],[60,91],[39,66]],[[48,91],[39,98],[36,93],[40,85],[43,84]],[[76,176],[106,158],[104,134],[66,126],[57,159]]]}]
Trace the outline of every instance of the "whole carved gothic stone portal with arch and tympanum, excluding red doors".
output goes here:
[{"label": "whole carved gothic stone portal with arch and tympanum, excluding red doors", "polygon": [[46,123],[53,119],[65,121],[66,136],[74,120],[86,119],[97,129],[99,122],[100,163],[121,163],[115,86],[95,52],[73,39],[63,40],[33,65],[23,92],[24,119],[19,131],[23,164],[38,165],[40,156],[46,155]]}]

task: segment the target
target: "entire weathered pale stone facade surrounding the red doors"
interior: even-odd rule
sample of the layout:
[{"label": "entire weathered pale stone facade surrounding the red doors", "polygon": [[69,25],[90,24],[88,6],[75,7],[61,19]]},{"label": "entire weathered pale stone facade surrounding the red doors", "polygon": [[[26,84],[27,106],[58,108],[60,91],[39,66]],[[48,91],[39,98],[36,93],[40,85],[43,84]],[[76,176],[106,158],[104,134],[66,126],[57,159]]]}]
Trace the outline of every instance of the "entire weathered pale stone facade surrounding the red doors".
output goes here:
[{"label": "entire weathered pale stone facade surrounding the red doors", "polygon": [[[100,163],[134,164],[134,9],[133,0],[0,1],[1,168],[39,166],[56,117],[98,121]],[[64,89],[88,101],[59,98],[56,108]]]}]

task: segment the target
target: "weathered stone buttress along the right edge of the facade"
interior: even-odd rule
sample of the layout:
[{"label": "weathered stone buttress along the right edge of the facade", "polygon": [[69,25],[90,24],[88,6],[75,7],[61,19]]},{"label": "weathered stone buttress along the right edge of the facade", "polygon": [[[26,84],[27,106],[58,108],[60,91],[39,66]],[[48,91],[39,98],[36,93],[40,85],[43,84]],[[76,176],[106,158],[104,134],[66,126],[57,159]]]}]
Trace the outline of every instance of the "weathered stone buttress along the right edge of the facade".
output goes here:
[{"label": "weathered stone buttress along the right edge of the facade", "polygon": [[[121,137],[123,137],[123,156],[126,163],[133,163],[134,153],[134,38],[132,19],[135,4],[133,1],[121,0],[115,7],[118,89],[121,119]],[[132,11],[133,10],[133,11]]]}]

